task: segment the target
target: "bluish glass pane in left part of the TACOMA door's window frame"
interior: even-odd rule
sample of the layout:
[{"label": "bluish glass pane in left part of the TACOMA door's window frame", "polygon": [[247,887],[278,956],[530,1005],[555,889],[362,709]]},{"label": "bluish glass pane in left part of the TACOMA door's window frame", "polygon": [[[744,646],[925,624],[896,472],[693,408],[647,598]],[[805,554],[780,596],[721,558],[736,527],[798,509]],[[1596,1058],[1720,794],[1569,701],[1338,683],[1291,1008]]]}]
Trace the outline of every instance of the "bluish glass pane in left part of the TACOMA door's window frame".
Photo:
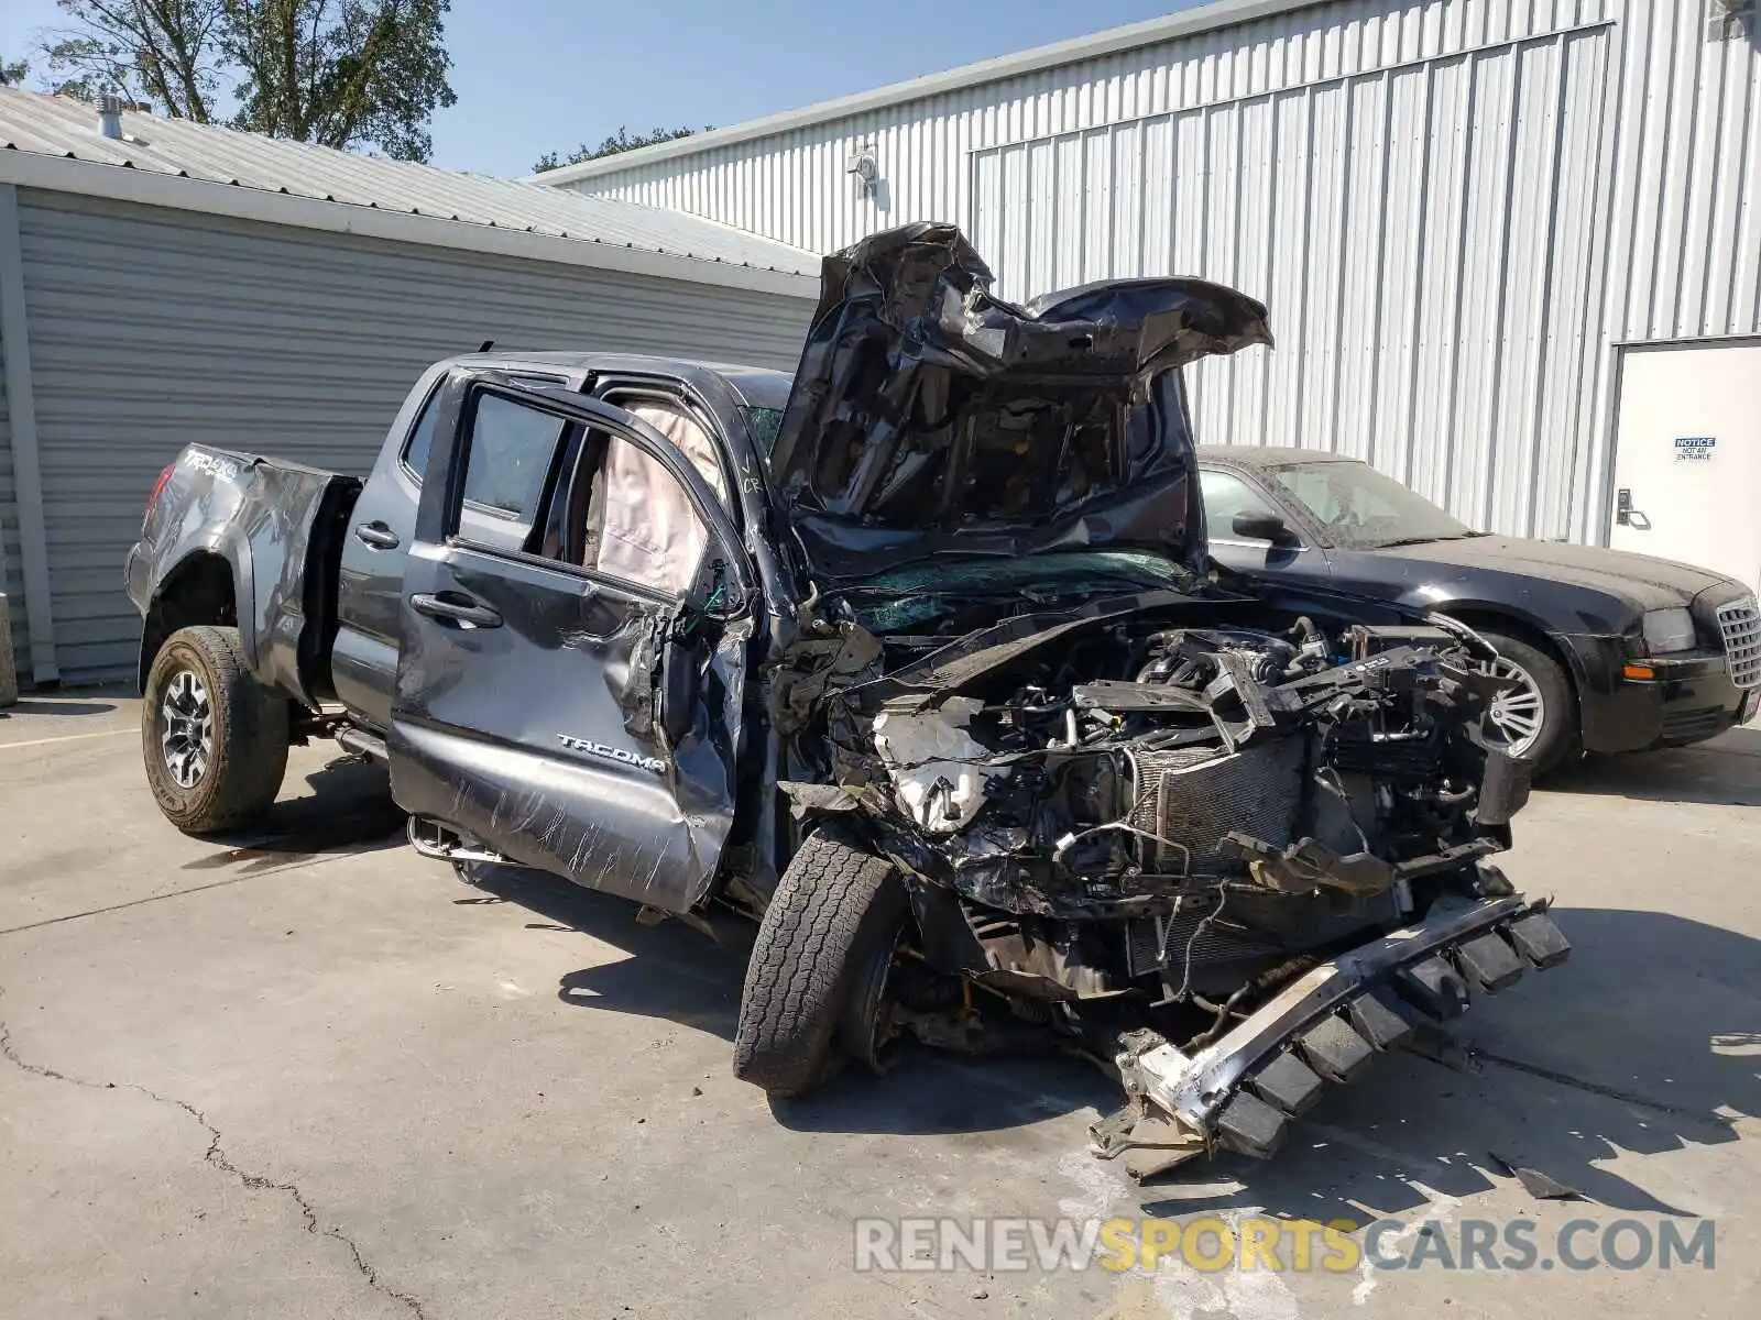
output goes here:
[{"label": "bluish glass pane in left part of the TACOMA door's window frame", "polygon": [[479,394],[465,449],[465,507],[453,530],[498,549],[525,549],[544,498],[564,421]]}]

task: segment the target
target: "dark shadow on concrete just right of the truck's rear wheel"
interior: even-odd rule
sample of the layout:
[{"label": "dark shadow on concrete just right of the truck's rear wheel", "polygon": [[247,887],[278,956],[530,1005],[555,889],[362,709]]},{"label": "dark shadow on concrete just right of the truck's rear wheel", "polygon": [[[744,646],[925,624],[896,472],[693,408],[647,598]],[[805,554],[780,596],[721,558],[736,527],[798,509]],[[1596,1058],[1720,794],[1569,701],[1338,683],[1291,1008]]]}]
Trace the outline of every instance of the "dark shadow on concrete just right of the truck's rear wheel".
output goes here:
[{"label": "dark shadow on concrete just right of the truck's rear wheel", "polygon": [[391,801],[382,766],[331,762],[306,776],[308,797],[276,803],[250,831],[217,834],[222,852],[185,862],[185,871],[268,871],[336,852],[379,852],[403,843],[403,811]]}]

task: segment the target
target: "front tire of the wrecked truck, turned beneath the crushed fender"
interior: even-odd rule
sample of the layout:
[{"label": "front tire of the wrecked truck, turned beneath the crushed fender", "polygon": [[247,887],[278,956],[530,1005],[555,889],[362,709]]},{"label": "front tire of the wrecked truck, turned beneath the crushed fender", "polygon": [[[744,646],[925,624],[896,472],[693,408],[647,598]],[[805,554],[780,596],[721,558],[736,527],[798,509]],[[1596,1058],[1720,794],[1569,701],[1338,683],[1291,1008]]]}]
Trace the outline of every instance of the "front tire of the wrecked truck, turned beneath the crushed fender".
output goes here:
[{"label": "front tire of the wrecked truck, turned beneath the crushed fender", "polygon": [[[858,1056],[877,1012],[910,901],[893,864],[835,829],[808,836],[782,873],[747,964],[734,1075],[771,1096],[810,1091],[838,1063],[842,1035]],[[865,1030],[870,1035],[863,1035]]]}]

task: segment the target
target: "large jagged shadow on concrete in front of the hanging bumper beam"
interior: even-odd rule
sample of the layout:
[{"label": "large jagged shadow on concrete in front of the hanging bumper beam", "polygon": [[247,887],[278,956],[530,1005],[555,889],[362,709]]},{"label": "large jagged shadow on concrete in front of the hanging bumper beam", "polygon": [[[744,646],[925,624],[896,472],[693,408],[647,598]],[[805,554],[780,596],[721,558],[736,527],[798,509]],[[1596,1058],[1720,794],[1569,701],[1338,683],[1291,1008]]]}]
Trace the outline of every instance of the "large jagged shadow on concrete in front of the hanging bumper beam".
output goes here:
[{"label": "large jagged shadow on concrete in front of the hanging bumper beam", "polygon": [[[1555,908],[1555,917],[1573,940],[1571,961],[1477,1001],[1453,1028],[1460,1067],[1381,1058],[1300,1119],[1270,1163],[1178,1170],[1145,1190],[1148,1206],[1162,1214],[1254,1206],[1361,1223],[1425,1204],[1425,1188],[1467,1199],[1513,1184],[1497,1153],[1588,1202],[1698,1213],[1604,1165],[1733,1142],[1735,1116],[1761,1114],[1761,942],[1666,913]],[[1213,1192],[1219,1179],[1240,1186]]]}]

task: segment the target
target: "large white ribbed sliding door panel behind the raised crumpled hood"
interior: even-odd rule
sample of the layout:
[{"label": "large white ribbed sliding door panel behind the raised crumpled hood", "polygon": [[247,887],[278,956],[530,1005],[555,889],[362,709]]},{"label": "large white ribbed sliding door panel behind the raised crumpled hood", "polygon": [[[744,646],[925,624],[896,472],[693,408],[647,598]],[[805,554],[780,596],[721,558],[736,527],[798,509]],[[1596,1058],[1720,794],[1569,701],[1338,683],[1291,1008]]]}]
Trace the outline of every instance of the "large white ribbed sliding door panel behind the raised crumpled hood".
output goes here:
[{"label": "large white ribbed sliding door panel behind the raised crumpled hood", "polygon": [[[1479,526],[1562,535],[1608,46],[1595,25],[979,151],[977,229],[1006,296],[1071,283],[1079,252],[1085,280],[1266,301],[1275,352],[1194,371],[1203,436],[1368,458]],[[1079,190],[1043,178],[1072,167]]]}]

